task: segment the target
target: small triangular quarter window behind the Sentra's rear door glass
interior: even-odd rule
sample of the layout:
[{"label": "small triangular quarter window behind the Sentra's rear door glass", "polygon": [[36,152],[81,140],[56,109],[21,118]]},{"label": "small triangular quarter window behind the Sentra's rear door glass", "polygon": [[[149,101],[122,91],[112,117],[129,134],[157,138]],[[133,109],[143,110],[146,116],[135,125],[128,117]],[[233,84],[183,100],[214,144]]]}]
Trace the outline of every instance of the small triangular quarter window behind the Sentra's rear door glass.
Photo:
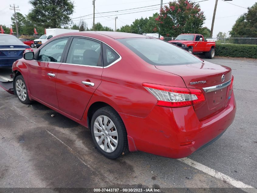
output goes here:
[{"label": "small triangular quarter window behind the Sentra's rear door glass", "polygon": [[106,44],[102,44],[102,50],[104,67],[109,66],[120,58],[120,55],[118,55],[112,48],[110,48]]}]

